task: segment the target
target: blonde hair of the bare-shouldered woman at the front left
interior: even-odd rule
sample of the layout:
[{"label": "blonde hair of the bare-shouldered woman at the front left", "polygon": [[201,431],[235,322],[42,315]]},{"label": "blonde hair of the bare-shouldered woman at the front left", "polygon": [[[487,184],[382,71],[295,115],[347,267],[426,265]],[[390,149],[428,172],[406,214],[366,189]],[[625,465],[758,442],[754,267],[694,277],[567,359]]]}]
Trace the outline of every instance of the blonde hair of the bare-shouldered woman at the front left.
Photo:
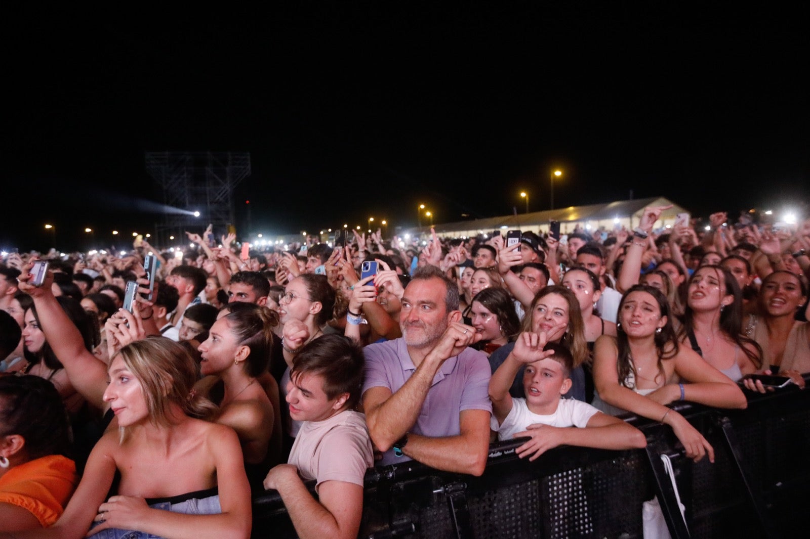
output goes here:
[{"label": "blonde hair of the bare-shouldered woman at the front left", "polygon": [[[118,355],[141,384],[152,424],[170,424],[169,404],[178,405],[192,418],[210,419],[217,414],[217,406],[194,391],[194,359],[180,343],[150,336],[124,346]],[[122,428],[122,441],[125,435]]]}]

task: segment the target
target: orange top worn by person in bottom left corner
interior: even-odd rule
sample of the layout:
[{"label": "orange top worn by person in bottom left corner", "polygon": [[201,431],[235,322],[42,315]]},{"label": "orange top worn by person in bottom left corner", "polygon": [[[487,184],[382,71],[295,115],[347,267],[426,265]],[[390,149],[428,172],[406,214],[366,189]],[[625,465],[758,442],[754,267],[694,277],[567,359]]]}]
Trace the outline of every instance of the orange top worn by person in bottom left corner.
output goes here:
[{"label": "orange top worn by person in bottom left corner", "polygon": [[73,460],[62,455],[43,456],[0,477],[0,503],[27,509],[45,528],[62,515],[76,482]]}]

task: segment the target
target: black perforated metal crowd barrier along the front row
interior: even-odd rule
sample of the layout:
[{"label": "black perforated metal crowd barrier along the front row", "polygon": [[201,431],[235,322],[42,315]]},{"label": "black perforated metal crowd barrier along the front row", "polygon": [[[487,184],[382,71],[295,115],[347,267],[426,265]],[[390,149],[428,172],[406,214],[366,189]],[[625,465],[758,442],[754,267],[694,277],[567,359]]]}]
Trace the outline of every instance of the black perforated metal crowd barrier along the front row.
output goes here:
[{"label": "black perforated metal crowd barrier along the front row", "polygon": [[[556,448],[521,460],[493,444],[481,477],[415,462],[369,470],[360,537],[642,537],[657,495],[672,537],[805,537],[810,510],[810,389],[751,396],[748,410],[682,405],[715,462],[683,456],[669,427],[638,418],[646,450]],[[676,507],[659,455],[672,456]],[[271,491],[254,499],[254,537],[296,537]]]}]

